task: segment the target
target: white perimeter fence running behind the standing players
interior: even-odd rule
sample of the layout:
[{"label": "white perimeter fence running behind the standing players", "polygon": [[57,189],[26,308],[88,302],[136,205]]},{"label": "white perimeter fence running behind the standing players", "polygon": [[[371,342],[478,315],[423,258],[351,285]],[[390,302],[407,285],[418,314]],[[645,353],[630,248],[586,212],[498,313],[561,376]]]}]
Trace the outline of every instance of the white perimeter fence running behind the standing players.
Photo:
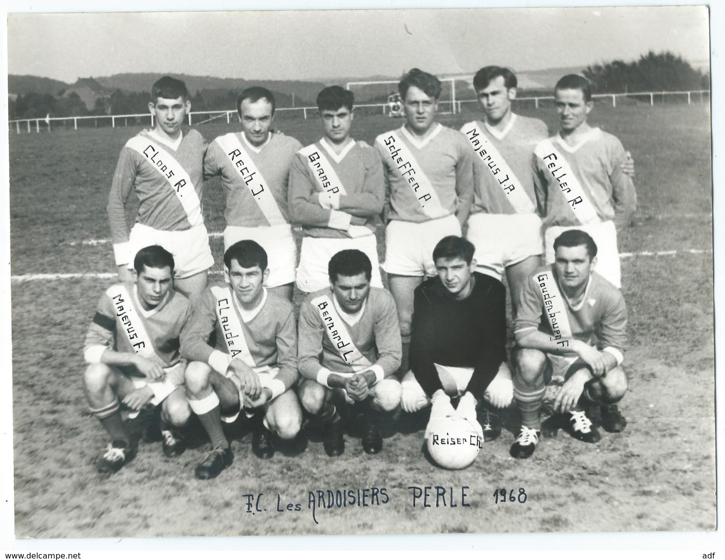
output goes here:
[{"label": "white perimeter fence running behind the standing players", "polygon": [[[666,96],[687,96],[687,104],[692,104],[692,101],[697,101],[702,103],[703,101],[707,100],[709,102],[710,99],[710,91],[709,90],[695,90],[695,91],[645,91],[645,92],[635,92],[635,93],[595,93],[595,95],[592,95],[594,98],[603,98],[603,99],[611,99],[612,100],[612,106],[617,106],[617,99],[618,98],[633,98],[633,99],[645,99],[645,101],[649,101],[650,105],[655,104],[655,99],[661,99],[662,103],[665,102]],[[554,96],[538,96],[538,97],[518,97],[515,99],[517,102],[522,101],[534,101],[534,107],[536,109],[539,109],[539,102],[540,101],[550,101],[553,100]],[[478,100],[476,99],[461,99],[459,101],[439,101],[439,109],[440,112],[443,113],[460,113],[463,107],[463,104],[472,104],[472,103],[478,103]],[[374,103],[374,104],[356,104],[355,109],[362,109],[366,108],[369,109],[372,112],[378,112],[378,109],[381,111],[382,114],[388,114],[390,111],[390,106],[387,103]],[[315,116],[317,114],[317,107],[278,107],[276,109],[277,113],[283,113],[291,115],[301,114],[302,118],[307,119],[308,115]],[[194,120],[194,115],[200,116],[203,115],[205,117],[208,117],[204,120]],[[204,122],[210,122],[212,120],[220,120],[226,118],[227,124],[230,124],[233,120],[236,121],[236,109],[233,109],[231,111],[199,111],[199,112],[191,112],[188,114],[188,124],[196,124],[196,125],[202,125]],[[148,119],[149,125],[153,128],[154,126],[154,116],[150,113],[140,113],[140,114],[101,114],[101,115],[93,115],[90,117],[46,117],[46,118],[38,118],[38,119],[19,119],[19,120],[11,120],[9,121],[9,127],[12,130],[15,129],[15,132],[20,134],[22,132],[25,132],[27,130],[28,133],[32,132],[33,130],[36,131],[36,133],[39,133],[41,131],[41,128],[43,131],[47,130],[50,132],[53,130],[54,123],[55,124],[61,124],[62,128],[66,128],[66,125],[72,122],[73,124],[73,130],[78,130],[78,121],[80,121],[81,126],[84,126],[83,121],[94,121],[94,127],[98,127],[99,121],[101,122],[101,126],[108,126],[110,125],[115,128],[116,126],[128,126],[128,120],[133,119],[132,125],[141,124],[144,125],[146,122],[144,122],[146,119]],[[140,121],[140,122],[139,122]],[[41,126],[42,125],[42,126]],[[88,125],[85,125],[88,126]]]}]

